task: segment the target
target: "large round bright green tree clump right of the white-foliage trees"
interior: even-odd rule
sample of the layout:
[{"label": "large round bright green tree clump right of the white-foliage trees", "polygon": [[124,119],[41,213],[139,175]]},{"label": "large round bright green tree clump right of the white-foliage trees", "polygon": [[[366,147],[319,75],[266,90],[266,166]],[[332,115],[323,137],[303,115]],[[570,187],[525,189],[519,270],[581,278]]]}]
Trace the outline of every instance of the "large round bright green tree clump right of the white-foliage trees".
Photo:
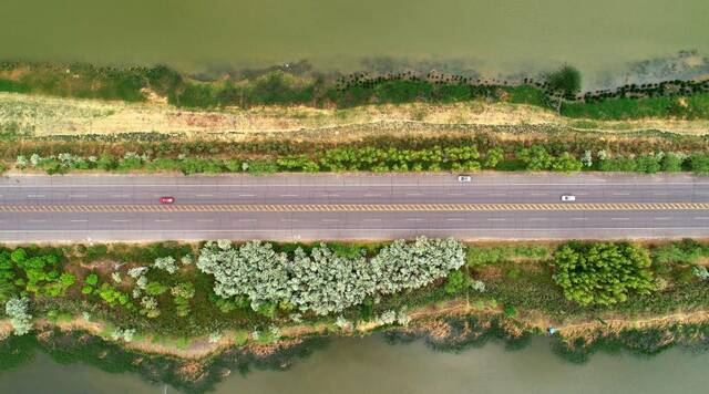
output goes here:
[{"label": "large round bright green tree clump right of the white-foliage trees", "polygon": [[556,250],[552,265],[564,297],[582,305],[613,305],[633,292],[656,289],[649,253],[627,242],[568,242]]}]

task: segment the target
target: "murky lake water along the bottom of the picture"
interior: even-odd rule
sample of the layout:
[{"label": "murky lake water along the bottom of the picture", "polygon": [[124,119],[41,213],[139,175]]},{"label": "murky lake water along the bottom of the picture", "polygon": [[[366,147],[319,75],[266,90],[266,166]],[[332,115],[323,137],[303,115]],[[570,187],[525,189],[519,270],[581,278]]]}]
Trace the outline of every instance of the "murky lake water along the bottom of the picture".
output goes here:
[{"label": "murky lake water along the bottom of the picture", "polygon": [[[390,345],[381,336],[339,339],[288,371],[232,374],[216,393],[430,394],[430,393],[706,393],[709,354],[670,350],[656,356],[597,353],[577,365],[536,338],[522,350],[500,343],[459,354],[418,341]],[[0,373],[0,393],[176,393],[137,375],[110,374],[83,364],[61,365],[39,354]]]}]

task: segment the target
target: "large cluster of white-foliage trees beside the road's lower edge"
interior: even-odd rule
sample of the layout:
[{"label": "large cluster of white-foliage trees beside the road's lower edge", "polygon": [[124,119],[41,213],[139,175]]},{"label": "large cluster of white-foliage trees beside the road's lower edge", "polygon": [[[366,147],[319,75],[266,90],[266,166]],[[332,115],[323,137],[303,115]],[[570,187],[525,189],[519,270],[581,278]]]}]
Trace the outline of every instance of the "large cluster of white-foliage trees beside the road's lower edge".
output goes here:
[{"label": "large cluster of white-foliage trees beside the road's lower edge", "polygon": [[455,240],[394,241],[367,261],[332,252],[327,246],[307,255],[297,249],[290,261],[270,243],[207,242],[197,268],[215,278],[214,292],[223,298],[248,297],[251,308],[290,304],[317,314],[341,312],[369,296],[418,289],[444,278],[465,262]]}]

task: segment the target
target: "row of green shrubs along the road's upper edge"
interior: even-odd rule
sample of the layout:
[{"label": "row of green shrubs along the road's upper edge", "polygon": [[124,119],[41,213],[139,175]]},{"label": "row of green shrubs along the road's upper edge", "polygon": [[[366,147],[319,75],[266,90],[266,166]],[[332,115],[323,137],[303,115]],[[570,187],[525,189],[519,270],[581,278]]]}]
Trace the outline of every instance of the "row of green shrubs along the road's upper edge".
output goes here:
[{"label": "row of green shrubs along the road's upper edge", "polygon": [[475,146],[440,147],[431,149],[381,149],[332,148],[321,155],[284,155],[260,159],[189,157],[151,158],[147,154],[129,152],[121,158],[104,153],[100,156],[80,157],[61,153],[42,157],[32,154],[20,155],[16,159],[18,169],[41,169],[49,174],[70,170],[99,169],[104,172],[182,172],[192,174],[249,173],[269,174],[277,172],[475,172],[497,170],[552,170],[552,172],[637,172],[655,174],[690,170],[709,173],[709,155],[656,153],[639,156],[609,156],[606,151],[584,152],[580,157],[564,152],[549,153],[543,145],[533,145],[514,153],[493,147],[481,155]]}]

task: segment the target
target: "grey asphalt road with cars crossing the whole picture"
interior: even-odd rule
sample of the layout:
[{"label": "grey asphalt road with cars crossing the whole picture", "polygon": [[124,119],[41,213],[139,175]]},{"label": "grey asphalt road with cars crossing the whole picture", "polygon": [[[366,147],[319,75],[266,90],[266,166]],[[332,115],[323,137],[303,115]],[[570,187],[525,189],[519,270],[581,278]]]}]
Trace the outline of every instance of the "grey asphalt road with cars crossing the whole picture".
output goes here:
[{"label": "grey asphalt road with cars crossing the whole picture", "polygon": [[686,174],[27,176],[0,178],[0,240],[709,237],[708,207]]}]

